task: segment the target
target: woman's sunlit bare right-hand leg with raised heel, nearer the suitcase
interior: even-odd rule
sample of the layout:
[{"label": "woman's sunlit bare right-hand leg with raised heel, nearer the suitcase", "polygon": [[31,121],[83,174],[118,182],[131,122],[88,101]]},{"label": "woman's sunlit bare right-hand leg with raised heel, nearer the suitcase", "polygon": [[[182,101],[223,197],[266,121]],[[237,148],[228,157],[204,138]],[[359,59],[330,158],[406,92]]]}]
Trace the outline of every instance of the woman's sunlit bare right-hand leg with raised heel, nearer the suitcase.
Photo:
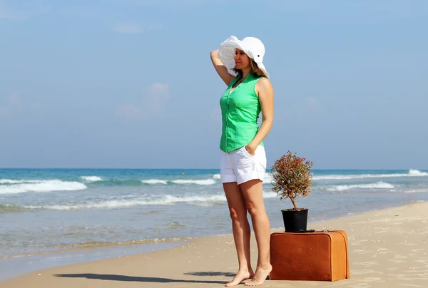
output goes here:
[{"label": "woman's sunlit bare right-hand leg with raised heel, nearer the suitcase", "polygon": [[272,271],[269,261],[270,253],[270,223],[267,217],[265,202],[263,202],[263,182],[260,180],[250,180],[240,185],[245,198],[245,205],[251,215],[255,240],[258,246],[257,269],[247,286],[257,286],[263,284],[267,275]]}]

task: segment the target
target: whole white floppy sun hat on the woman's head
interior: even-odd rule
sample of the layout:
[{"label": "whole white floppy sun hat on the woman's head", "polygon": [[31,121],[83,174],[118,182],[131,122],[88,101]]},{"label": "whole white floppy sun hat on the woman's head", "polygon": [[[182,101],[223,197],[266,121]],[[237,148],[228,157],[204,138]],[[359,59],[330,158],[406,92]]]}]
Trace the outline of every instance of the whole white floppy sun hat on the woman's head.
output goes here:
[{"label": "whole white floppy sun hat on the woman's head", "polygon": [[223,63],[223,65],[228,68],[228,72],[237,76],[237,73],[232,69],[235,68],[235,52],[236,48],[245,52],[248,57],[252,58],[255,63],[257,63],[258,68],[260,68],[267,78],[269,78],[269,73],[267,73],[265,65],[263,65],[263,57],[265,56],[265,45],[259,38],[255,37],[245,37],[243,40],[239,40],[235,36],[230,36],[223,43],[220,44],[220,49],[218,51],[218,58]]}]

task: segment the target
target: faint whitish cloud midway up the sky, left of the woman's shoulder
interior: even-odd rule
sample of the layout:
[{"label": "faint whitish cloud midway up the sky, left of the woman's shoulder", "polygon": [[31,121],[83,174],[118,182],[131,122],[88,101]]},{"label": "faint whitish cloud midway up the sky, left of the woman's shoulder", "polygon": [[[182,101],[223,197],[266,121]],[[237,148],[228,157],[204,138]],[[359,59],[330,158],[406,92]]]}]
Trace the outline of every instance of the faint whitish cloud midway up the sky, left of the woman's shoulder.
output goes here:
[{"label": "faint whitish cloud midway up the sky, left of the woman's shoulder", "polygon": [[127,103],[118,107],[120,118],[160,118],[166,115],[166,103],[169,100],[168,83],[153,83],[138,103]]}]

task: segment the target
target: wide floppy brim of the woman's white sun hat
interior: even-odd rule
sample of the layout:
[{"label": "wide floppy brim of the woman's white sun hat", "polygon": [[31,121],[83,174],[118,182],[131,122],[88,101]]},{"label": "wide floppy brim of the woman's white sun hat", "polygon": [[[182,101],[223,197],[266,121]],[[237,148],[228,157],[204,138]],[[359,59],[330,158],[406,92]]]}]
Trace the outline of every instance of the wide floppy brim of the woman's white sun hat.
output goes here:
[{"label": "wide floppy brim of the woman's white sun hat", "polygon": [[[237,73],[233,71],[232,69],[235,68],[235,53],[236,49],[240,49],[244,51],[249,57],[249,49],[243,43],[243,41],[240,41],[235,36],[230,36],[228,39],[226,39],[223,43],[220,44],[220,49],[218,51],[218,58],[220,58],[220,61],[223,63],[223,65],[228,69],[228,72],[233,75],[237,76]],[[265,65],[263,65],[263,62],[255,62],[266,75],[267,78],[269,78],[269,73],[267,73]]]}]

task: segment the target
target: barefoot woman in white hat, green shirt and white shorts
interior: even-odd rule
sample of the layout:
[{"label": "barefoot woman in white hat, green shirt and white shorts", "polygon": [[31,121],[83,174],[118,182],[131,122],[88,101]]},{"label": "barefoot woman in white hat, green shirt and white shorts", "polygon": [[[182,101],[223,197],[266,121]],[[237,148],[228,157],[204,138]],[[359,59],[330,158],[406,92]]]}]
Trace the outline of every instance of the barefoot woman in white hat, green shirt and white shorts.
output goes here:
[{"label": "barefoot woman in white hat, green shirt and white shorts", "polygon": [[[272,127],[273,89],[263,65],[265,46],[258,38],[242,41],[230,36],[211,52],[211,61],[228,86],[220,98],[222,135],[220,179],[232,219],[239,270],[225,286],[250,279],[247,286],[263,284],[272,270],[269,262],[270,222],[263,202],[266,155],[263,139]],[[263,122],[258,127],[260,112]],[[250,264],[250,213],[258,245],[258,263]]]}]

